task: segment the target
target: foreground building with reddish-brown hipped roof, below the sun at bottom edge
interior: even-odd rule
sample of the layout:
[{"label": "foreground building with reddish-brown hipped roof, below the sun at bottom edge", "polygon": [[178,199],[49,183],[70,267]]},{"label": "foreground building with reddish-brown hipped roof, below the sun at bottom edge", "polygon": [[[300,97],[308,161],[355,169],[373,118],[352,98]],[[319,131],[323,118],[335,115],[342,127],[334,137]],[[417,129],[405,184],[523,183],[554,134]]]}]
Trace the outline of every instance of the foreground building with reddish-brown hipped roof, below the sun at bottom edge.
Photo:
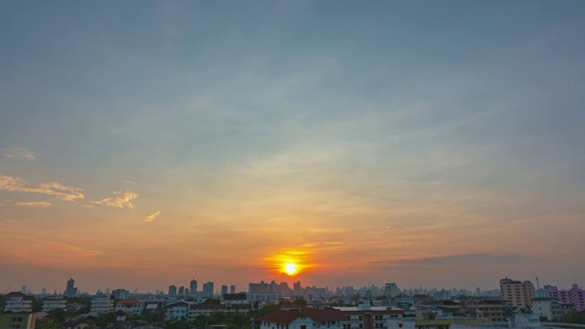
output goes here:
[{"label": "foreground building with reddish-brown hipped roof, below the sun at bottom edge", "polygon": [[260,329],[342,329],[345,319],[339,310],[277,310],[260,316]]}]

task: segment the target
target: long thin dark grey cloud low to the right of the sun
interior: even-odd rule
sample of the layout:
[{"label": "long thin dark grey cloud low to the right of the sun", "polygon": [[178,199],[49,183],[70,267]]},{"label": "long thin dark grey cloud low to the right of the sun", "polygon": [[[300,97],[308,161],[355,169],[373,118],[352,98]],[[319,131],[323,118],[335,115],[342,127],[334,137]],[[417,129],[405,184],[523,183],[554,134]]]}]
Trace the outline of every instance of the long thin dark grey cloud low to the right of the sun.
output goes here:
[{"label": "long thin dark grey cloud low to the right of the sun", "polygon": [[530,260],[522,255],[490,255],[490,254],[462,254],[448,255],[439,257],[426,257],[419,259],[404,260],[380,260],[372,263],[395,264],[395,265],[416,265],[416,266],[434,266],[434,265],[494,265],[494,264],[513,264],[527,262]]}]

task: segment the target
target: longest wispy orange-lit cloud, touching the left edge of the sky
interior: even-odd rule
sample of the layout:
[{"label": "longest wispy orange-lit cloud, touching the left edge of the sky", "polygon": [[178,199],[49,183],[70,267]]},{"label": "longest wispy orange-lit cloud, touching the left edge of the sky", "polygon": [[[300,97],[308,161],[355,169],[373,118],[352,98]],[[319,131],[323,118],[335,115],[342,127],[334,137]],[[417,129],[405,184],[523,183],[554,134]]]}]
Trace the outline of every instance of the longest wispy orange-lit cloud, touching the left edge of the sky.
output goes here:
[{"label": "longest wispy orange-lit cloud, touching the left edge of the sky", "polygon": [[11,177],[8,175],[0,175],[0,190],[41,193],[48,196],[57,196],[64,201],[75,201],[77,199],[85,198],[80,192],[83,189],[78,187],[63,186],[57,182],[34,185],[29,184],[26,180],[20,177]]}]

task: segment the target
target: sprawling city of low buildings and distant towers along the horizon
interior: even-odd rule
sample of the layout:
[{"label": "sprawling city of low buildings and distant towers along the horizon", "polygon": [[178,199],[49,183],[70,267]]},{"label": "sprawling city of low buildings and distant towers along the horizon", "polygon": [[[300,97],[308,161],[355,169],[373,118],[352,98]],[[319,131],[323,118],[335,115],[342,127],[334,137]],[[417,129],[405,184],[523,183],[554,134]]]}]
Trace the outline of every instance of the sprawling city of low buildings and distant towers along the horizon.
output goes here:
[{"label": "sprawling city of low buildings and distant towers along the horizon", "polygon": [[[6,328],[207,328],[230,326],[277,328],[299,325],[334,329],[389,328],[489,328],[555,327],[573,322],[572,314],[585,314],[585,291],[577,284],[569,289],[543,285],[538,279],[505,278],[499,289],[400,289],[397,282],[382,286],[303,287],[301,281],[250,282],[247,291],[234,285],[215,289],[213,281],[193,279],[187,286],[170,285],[166,292],[130,292],[108,288],[80,292],[69,278],[63,292],[20,292],[2,296],[0,325]],[[218,313],[239,315],[239,324]],[[255,314],[257,318],[249,314]],[[303,319],[310,319],[303,324]],[[222,320],[221,320],[222,319]],[[300,320],[299,320],[300,319]],[[579,318],[575,318],[578,319]],[[582,320],[585,320],[583,318]],[[317,321],[318,323],[314,323]],[[243,323],[242,323],[243,322]],[[585,323],[583,324],[585,325]],[[300,327],[299,327],[300,328]]]}]

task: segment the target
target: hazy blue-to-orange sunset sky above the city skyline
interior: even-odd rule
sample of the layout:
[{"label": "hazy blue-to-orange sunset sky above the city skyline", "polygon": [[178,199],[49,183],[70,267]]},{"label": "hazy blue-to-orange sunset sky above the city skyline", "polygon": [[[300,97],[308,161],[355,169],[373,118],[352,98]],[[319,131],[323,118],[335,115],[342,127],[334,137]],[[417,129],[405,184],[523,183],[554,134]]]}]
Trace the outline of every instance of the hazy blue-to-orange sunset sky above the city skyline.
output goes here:
[{"label": "hazy blue-to-orange sunset sky above the city skyline", "polygon": [[0,45],[0,292],[585,283],[585,2],[8,0]]}]

